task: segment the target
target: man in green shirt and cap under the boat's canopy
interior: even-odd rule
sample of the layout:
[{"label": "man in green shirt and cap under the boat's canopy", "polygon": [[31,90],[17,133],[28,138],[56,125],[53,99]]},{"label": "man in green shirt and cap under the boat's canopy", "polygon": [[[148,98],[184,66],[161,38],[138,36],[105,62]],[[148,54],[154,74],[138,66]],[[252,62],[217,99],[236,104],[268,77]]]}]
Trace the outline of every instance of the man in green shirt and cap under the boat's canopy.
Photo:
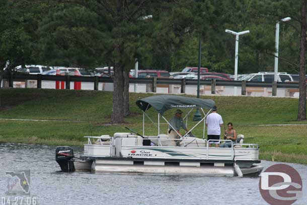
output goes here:
[{"label": "man in green shirt and cap under the boat's canopy", "polygon": [[[170,120],[170,124],[169,128],[168,128],[168,134],[170,136],[170,138],[177,138],[178,134],[177,132],[180,134],[180,136],[183,136],[183,134],[180,132],[180,128],[182,127],[184,130],[186,130],[186,132],[188,132],[189,130],[187,129],[186,124],[183,122],[182,119],[182,111],[181,110],[176,110],[175,116]],[[175,130],[177,131],[175,131]]]}]

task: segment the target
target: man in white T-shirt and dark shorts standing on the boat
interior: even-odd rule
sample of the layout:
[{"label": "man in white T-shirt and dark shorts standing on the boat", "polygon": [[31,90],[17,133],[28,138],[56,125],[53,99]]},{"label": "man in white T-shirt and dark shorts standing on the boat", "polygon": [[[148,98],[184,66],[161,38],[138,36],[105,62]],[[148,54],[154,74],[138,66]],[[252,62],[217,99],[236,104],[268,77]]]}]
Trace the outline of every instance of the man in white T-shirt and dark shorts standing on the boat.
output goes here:
[{"label": "man in white T-shirt and dark shorts standing on the boat", "polygon": [[220,127],[223,125],[222,117],[216,113],[217,107],[214,105],[212,108],[212,113],[207,116],[206,125],[207,125],[207,135],[208,141],[215,140],[209,142],[209,147],[212,144],[215,144],[215,147],[218,148],[218,144],[220,143]]}]

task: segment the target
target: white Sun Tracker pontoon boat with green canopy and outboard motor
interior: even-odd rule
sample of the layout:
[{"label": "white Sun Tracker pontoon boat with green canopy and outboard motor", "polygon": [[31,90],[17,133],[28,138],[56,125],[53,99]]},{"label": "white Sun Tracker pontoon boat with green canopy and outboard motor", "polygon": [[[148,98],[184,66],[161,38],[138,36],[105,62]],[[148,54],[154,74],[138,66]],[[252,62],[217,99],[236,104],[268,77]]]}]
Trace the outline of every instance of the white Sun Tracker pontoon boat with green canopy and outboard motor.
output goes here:
[{"label": "white Sun Tracker pontoon boat with green canopy and outboard motor", "polygon": [[[75,157],[70,147],[62,146],[56,149],[55,159],[62,171],[258,176],[263,169],[259,165],[259,146],[244,144],[243,135],[238,135],[231,148],[208,146],[209,141],[205,139],[205,120],[214,104],[209,99],[175,95],[157,95],[137,100],[136,105],[143,113],[142,134],[131,130],[117,132],[113,136],[85,136],[88,143],[84,145],[84,153],[80,157]],[[155,123],[146,113],[151,107],[158,111],[158,134],[154,136],[145,135],[145,117]],[[191,137],[189,133],[179,139],[170,139],[167,134],[161,133],[160,119],[170,124],[164,114],[172,108],[190,109],[183,118],[186,123],[192,110],[198,108],[202,111],[202,119],[189,132],[203,123],[202,139]],[[172,127],[171,124],[170,126]]]}]

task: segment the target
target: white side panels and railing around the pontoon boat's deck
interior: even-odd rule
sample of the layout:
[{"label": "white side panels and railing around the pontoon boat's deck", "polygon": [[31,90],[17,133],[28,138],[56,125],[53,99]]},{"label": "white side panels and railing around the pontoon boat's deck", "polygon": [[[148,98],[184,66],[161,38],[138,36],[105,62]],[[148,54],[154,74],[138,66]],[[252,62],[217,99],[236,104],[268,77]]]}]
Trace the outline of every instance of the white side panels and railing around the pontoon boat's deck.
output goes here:
[{"label": "white side panels and railing around the pontoon boat's deck", "polygon": [[[212,157],[212,156],[224,156],[224,159],[227,159],[227,160],[234,160],[235,158],[236,159],[239,159],[239,160],[243,160],[243,158],[238,157],[238,154],[241,153],[241,156],[242,156],[242,153],[244,155],[246,155],[246,153],[254,153],[254,154],[248,154],[246,155],[245,159],[249,159],[250,157],[253,158],[253,159],[259,159],[259,146],[257,144],[238,144],[238,143],[231,143],[231,147],[229,148],[215,148],[214,147],[214,144],[212,147],[209,147],[209,143],[210,142],[214,142],[214,141],[220,141],[220,142],[232,142],[231,140],[203,140],[203,143],[199,143],[198,142],[198,145],[199,147],[197,146],[189,146],[191,143],[193,143],[194,141],[189,141],[189,142],[186,142],[185,144],[182,144],[182,146],[174,146],[174,147],[170,147],[170,146],[162,146],[163,145],[163,142],[166,142],[166,141],[183,141],[183,139],[169,139],[169,138],[162,138],[162,139],[159,139],[159,138],[148,138],[146,140],[155,140],[156,144],[155,146],[142,146],[142,145],[139,145],[140,143],[137,142],[137,140],[139,140],[139,138],[135,138],[135,142],[132,140],[132,145],[131,145],[131,141],[129,144],[124,144],[124,143],[120,143],[120,144],[116,144],[116,140],[115,139],[118,139],[118,138],[121,138],[121,141],[123,139],[125,139],[125,137],[116,137],[116,138],[113,138],[111,136],[85,136],[85,138],[88,138],[88,144],[85,144],[85,155],[88,155],[88,156],[96,156],[96,157],[112,157],[112,156],[115,156],[115,150],[118,149],[116,148],[116,146],[120,146],[120,150],[129,150],[129,149],[154,149],[154,148],[165,148],[165,149],[168,149],[168,150],[174,150],[174,151],[179,151],[179,152],[182,152],[182,153],[191,153],[191,152],[195,152],[195,153],[202,153],[202,155],[204,157],[200,157],[202,159],[215,159],[216,157]],[[94,139],[97,139],[95,142],[93,141]],[[130,139],[133,139],[133,138],[130,138]],[[123,141],[122,141],[123,142]],[[204,145],[205,144],[205,145]],[[247,151],[249,150],[249,151]],[[185,152],[186,151],[186,152]],[[223,155],[221,154],[223,153]],[[210,156],[209,156],[210,155]],[[227,155],[227,156],[225,156]],[[124,156],[124,155],[123,155]],[[240,156],[240,155],[239,155]],[[250,157],[248,157],[250,156]],[[197,157],[195,157],[197,158]],[[220,159],[220,158],[218,158]]]}]

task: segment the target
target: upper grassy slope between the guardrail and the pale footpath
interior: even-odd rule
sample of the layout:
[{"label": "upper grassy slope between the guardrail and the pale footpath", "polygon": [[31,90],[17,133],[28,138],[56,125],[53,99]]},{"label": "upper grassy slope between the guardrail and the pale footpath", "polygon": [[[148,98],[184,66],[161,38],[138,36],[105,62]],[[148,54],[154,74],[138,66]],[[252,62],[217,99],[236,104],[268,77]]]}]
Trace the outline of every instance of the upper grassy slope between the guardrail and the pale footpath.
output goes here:
[{"label": "upper grassy slope between the guardrail and the pale footpath", "polygon": [[[109,122],[112,114],[112,93],[101,91],[74,91],[51,89],[1,89],[0,118],[62,119],[92,122]],[[138,98],[152,94],[130,93],[130,111],[141,114],[136,107]],[[297,123],[298,100],[292,98],[221,97],[201,96],[216,102],[224,121],[235,124]],[[156,117],[156,112],[149,114]],[[166,116],[173,111],[166,112]],[[141,117],[132,115],[126,122],[138,122]],[[300,122],[307,123],[307,122]]]}]

